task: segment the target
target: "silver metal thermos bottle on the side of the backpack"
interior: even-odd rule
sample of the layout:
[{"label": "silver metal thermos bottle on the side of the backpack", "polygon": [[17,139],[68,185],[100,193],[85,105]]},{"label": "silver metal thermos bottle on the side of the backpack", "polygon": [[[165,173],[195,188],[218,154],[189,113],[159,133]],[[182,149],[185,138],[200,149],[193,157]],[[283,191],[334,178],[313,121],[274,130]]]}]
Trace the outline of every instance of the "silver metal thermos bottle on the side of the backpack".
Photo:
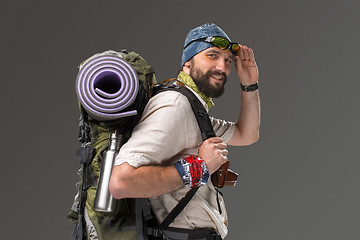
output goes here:
[{"label": "silver metal thermos bottle on the side of the backpack", "polygon": [[119,136],[116,133],[110,135],[110,146],[104,153],[104,160],[101,166],[99,183],[96,190],[94,203],[95,211],[112,212],[116,207],[116,200],[109,191],[109,182],[115,156],[120,149],[121,140],[121,135]]}]

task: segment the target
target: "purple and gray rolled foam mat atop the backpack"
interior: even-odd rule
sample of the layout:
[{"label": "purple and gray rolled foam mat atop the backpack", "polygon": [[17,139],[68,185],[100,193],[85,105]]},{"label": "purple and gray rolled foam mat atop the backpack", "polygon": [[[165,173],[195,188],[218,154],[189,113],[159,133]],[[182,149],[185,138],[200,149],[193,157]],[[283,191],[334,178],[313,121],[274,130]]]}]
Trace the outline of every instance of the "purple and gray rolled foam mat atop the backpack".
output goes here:
[{"label": "purple and gray rolled foam mat atop the backpack", "polygon": [[139,80],[133,67],[114,51],[96,54],[81,66],[76,93],[85,111],[98,121],[137,114],[126,109],[133,104]]}]

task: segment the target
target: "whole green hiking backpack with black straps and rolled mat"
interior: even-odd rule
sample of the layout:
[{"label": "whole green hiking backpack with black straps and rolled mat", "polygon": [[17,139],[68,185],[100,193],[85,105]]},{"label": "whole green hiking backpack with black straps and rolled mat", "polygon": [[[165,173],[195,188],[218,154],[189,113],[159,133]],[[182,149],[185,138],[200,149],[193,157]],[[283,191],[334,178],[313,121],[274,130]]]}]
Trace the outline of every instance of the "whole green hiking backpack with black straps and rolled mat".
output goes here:
[{"label": "whole green hiking backpack with black straps and rolled mat", "polygon": [[[119,69],[114,70],[118,67]],[[116,82],[119,81],[117,74],[121,75],[121,79],[133,78],[139,83],[134,88],[137,94],[121,99],[119,96],[124,97],[126,95],[124,92],[131,92],[131,87],[126,87],[126,91],[122,91],[121,88],[125,86],[121,85],[126,85],[123,84],[126,80],[117,84]],[[84,83],[83,79],[87,82]],[[176,79],[172,80],[176,81]],[[78,151],[81,169],[79,170],[80,182],[77,184],[78,193],[75,196],[72,211],[68,214],[70,221],[76,224],[72,240],[146,240],[148,235],[166,239],[167,234],[177,236],[177,239],[184,239],[185,233],[169,233],[167,229],[192,199],[198,188],[192,188],[162,223],[156,222],[148,199],[115,200],[115,209],[111,212],[99,212],[94,207],[101,169],[105,163],[104,153],[111,145],[110,136],[116,133],[122,137],[118,146],[120,148],[130,138],[134,126],[139,122],[145,105],[152,95],[167,90],[180,92],[191,104],[202,139],[216,136],[202,103],[186,87],[171,84],[173,81],[156,84],[154,70],[145,60],[139,54],[125,50],[120,53],[106,51],[95,54],[80,65],[76,90],[81,112],[79,121],[81,148]],[[127,84],[131,85],[130,81]],[[93,91],[92,88],[100,90]],[[101,90],[110,93],[102,93]],[[92,99],[91,94],[94,92],[104,97],[104,102]],[[96,106],[91,105],[94,102]],[[126,108],[114,107],[118,102],[125,102]],[[101,106],[104,105],[107,109],[100,111]],[[111,112],[106,112],[109,109]],[[121,110],[120,113],[116,112],[118,109]],[[114,115],[116,117],[113,117]],[[119,118],[119,115],[125,117]]]}]

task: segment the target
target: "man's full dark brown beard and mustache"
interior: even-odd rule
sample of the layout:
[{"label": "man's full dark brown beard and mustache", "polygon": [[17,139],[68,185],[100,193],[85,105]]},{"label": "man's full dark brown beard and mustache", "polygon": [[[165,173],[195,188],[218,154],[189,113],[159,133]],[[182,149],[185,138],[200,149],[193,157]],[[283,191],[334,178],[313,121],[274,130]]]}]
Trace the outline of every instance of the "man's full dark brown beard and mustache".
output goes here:
[{"label": "man's full dark brown beard and mustache", "polygon": [[[215,82],[215,85],[211,84],[210,78],[212,75],[221,75],[223,77],[222,83]],[[190,77],[194,80],[199,91],[207,97],[218,98],[225,91],[227,76],[222,71],[208,70],[203,73],[200,69],[192,69],[190,70]]]}]

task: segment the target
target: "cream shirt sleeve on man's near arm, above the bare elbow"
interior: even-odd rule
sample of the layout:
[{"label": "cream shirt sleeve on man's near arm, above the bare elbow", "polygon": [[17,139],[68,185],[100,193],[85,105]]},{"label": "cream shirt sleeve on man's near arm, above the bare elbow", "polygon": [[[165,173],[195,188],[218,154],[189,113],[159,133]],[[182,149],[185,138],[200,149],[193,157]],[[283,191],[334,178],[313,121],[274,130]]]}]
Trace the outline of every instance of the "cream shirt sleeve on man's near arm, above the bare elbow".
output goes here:
[{"label": "cream shirt sleeve on man's near arm, above the bare elbow", "polygon": [[[187,145],[189,122],[195,116],[187,99],[180,93],[167,91],[152,97],[140,122],[115,159],[115,165],[124,162],[133,167],[143,165],[170,165],[173,156]],[[186,130],[184,130],[186,129]]]}]

